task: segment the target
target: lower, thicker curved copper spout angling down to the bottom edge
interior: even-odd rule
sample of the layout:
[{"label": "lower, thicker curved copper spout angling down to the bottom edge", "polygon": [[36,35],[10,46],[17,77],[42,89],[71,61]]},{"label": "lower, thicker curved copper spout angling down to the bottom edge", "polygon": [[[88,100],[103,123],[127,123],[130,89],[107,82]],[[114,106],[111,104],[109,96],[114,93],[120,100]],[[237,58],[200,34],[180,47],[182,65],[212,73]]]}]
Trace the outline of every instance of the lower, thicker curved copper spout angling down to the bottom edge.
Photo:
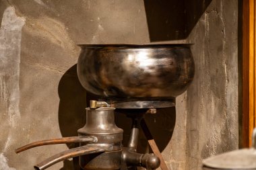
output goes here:
[{"label": "lower, thicker curved copper spout angling down to the bottom edge", "polygon": [[34,169],[43,170],[51,167],[51,165],[54,165],[55,163],[64,161],[65,159],[78,157],[81,155],[88,155],[91,153],[102,153],[105,151],[111,151],[112,148],[113,146],[111,144],[87,144],[77,148],[71,148],[67,151],[54,155],[53,157],[49,157],[49,159],[46,159],[42,161],[42,163],[34,166]]}]

